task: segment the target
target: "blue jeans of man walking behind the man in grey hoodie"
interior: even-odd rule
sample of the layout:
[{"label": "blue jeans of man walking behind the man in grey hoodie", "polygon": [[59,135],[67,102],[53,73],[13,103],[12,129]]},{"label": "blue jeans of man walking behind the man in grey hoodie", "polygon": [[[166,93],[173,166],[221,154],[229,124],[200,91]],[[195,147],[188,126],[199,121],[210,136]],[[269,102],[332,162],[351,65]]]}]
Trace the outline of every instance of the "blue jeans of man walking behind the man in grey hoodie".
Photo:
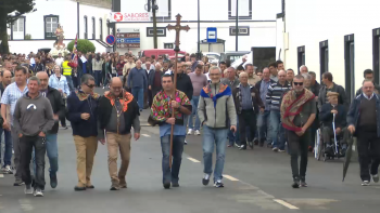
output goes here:
[{"label": "blue jeans of man walking behind the man in grey hoodie", "polygon": [[[58,172],[58,144],[56,144],[56,134],[47,134],[47,154],[49,159],[50,174],[55,174]],[[33,150],[33,169],[34,174],[36,173],[36,150]]]}]

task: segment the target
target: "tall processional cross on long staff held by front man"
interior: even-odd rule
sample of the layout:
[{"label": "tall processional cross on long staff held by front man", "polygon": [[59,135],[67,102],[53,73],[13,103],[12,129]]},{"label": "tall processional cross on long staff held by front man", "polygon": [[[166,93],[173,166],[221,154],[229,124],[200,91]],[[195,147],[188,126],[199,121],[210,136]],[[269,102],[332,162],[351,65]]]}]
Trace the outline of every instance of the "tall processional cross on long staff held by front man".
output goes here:
[{"label": "tall processional cross on long staff held by front man", "polygon": [[[174,66],[174,90],[176,91],[177,88],[177,63],[178,63],[178,52],[179,52],[179,32],[180,30],[186,30],[189,31],[190,27],[188,25],[186,26],[181,26],[180,25],[180,19],[181,19],[181,15],[178,13],[176,15],[176,19],[177,19],[177,24],[175,26],[173,25],[167,25],[167,29],[170,31],[172,29],[176,30],[176,41],[175,41],[175,48],[174,51],[176,52],[176,64]],[[175,94],[174,94],[175,95]],[[175,99],[174,96],[172,96],[172,101]],[[172,118],[174,118],[174,108],[172,108]],[[173,133],[174,133],[174,125],[172,125],[172,133],[170,133],[170,154],[169,154],[169,168],[172,168],[172,152],[173,152]]]}]

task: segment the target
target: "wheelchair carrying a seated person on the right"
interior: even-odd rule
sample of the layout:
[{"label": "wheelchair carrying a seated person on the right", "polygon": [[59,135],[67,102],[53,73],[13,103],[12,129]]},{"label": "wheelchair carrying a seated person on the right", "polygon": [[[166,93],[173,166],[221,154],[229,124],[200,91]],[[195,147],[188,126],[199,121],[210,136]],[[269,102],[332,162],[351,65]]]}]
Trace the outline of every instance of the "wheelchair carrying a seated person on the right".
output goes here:
[{"label": "wheelchair carrying a seated person on the right", "polygon": [[330,145],[324,143],[322,137],[322,127],[319,128],[315,134],[315,158],[319,161],[324,157],[324,162],[327,160],[340,159],[345,157],[345,151],[347,149],[347,143],[343,142],[343,134],[337,135],[337,143],[334,136],[331,137],[332,146],[328,149]]}]

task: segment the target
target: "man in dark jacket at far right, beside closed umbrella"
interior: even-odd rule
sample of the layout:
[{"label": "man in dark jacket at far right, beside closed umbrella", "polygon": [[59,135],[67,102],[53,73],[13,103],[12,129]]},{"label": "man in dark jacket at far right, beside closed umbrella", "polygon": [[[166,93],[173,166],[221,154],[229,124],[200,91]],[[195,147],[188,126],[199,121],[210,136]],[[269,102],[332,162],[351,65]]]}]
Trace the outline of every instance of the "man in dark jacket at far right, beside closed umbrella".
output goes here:
[{"label": "man in dark jacket at far right, beside closed umbrella", "polygon": [[[363,93],[351,104],[347,114],[349,131],[357,137],[362,186],[369,186],[370,177],[379,182],[380,163],[380,98],[370,80],[363,83]],[[369,170],[369,163],[370,170]]]}]

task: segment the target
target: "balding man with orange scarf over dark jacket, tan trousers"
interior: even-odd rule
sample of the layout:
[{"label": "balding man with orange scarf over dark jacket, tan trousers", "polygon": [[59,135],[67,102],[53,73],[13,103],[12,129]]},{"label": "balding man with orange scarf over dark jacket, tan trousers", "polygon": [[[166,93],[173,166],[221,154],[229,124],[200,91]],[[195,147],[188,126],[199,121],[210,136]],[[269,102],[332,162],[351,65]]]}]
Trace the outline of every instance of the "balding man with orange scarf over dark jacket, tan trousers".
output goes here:
[{"label": "balding man with orange scarf over dark jacket, tan trousers", "polygon": [[[110,190],[127,188],[125,176],[130,158],[131,127],[134,127],[135,139],[140,137],[139,105],[130,93],[123,90],[122,80],[114,77],[110,82],[110,91],[99,99],[98,111],[98,138],[102,144],[105,144],[105,138],[107,141],[112,183]],[[118,151],[122,157],[122,167],[117,172]]]}]

